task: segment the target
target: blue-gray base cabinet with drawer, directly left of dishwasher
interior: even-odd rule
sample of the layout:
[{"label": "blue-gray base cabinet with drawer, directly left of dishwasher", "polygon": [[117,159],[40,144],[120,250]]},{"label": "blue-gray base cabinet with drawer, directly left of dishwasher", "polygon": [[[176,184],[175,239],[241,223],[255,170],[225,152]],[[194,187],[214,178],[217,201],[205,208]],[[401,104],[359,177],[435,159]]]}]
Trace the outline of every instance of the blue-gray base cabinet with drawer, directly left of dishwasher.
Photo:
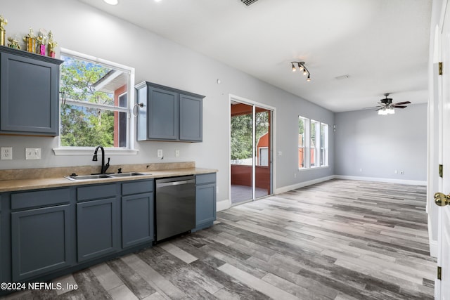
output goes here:
[{"label": "blue-gray base cabinet with drawer, directly left of dishwasher", "polygon": [[154,240],[153,180],[122,183],[122,248]]}]

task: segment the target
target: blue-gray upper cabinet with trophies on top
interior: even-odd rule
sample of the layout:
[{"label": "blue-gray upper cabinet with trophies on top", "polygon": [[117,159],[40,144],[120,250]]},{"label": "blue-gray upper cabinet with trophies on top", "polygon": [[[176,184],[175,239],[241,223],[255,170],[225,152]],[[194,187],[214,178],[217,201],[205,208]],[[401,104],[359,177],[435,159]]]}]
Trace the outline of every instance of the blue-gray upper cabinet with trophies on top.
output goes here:
[{"label": "blue-gray upper cabinet with trophies on top", "polygon": [[0,133],[58,136],[61,63],[0,46]]}]

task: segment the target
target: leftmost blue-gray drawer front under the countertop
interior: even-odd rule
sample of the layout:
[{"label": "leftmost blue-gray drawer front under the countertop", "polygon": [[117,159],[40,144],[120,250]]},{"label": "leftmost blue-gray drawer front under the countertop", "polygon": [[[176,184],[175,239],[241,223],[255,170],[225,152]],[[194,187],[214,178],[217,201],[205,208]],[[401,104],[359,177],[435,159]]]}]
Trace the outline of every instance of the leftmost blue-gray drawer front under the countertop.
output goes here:
[{"label": "leftmost blue-gray drawer front under the countertop", "polygon": [[53,204],[63,204],[70,201],[70,189],[37,190],[34,192],[11,194],[11,209],[25,209]]}]

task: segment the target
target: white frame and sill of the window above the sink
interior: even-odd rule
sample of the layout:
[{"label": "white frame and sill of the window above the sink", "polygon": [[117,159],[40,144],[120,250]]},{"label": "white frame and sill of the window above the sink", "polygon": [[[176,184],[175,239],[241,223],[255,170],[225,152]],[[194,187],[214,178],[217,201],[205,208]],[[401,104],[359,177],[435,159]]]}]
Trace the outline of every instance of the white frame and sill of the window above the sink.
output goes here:
[{"label": "white frame and sill of the window above the sink", "polygon": [[[133,107],[135,105],[135,96],[134,96],[134,67],[128,67],[126,65],[121,65],[119,63],[114,63],[109,60],[104,60],[102,58],[96,58],[95,56],[89,56],[84,53],[79,53],[77,51],[72,51],[66,48],[60,48],[61,56],[70,56],[72,58],[77,58],[79,60],[90,61],[91,63],[98,63],[101,65],[105,65],[106,67],[111,67],[115,70],[121,70],[122,72],[126,72],[129,74],[128,77],[128,97],[127,97],[127,107],[115,107],[113,105],[98,105],[96,103],[86,103],[84,101],[78,100],[70,100],[66,99],[66,103],[75,104],[84,107],[91,108],[101,108],[107,109],[114,108],[114,111],[118,112],[127,112],[127,147],[126,148],[105,148],[105,154],[108,155],[136,155],[139,151],[134,149],[134,140],[135,140],[135,131],[134,124],[136,117],[133,114]],[[61,103],[61,101],[60,101]],[[92,155],[95,147],[63,147],[61,146],[60,136],[58,136],[58,148],[53,148],[53,152],[55,155]]]}]

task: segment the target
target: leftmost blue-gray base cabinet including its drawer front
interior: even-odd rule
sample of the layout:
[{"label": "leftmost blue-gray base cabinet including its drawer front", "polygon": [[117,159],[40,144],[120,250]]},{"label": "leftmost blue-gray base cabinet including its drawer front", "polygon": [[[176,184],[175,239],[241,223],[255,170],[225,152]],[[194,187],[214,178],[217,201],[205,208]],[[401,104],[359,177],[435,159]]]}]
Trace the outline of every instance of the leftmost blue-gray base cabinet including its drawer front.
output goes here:
[{"label": "leftmost blue-gray base cabinet including its drawer front", "polygon": [[[11,212],[13,282],[68,268],[75,262],[75,219],[69,201],[67,188],[11,194],[11,209],[19,210]],[[39,207],[42,205],[46,207]]]}]

